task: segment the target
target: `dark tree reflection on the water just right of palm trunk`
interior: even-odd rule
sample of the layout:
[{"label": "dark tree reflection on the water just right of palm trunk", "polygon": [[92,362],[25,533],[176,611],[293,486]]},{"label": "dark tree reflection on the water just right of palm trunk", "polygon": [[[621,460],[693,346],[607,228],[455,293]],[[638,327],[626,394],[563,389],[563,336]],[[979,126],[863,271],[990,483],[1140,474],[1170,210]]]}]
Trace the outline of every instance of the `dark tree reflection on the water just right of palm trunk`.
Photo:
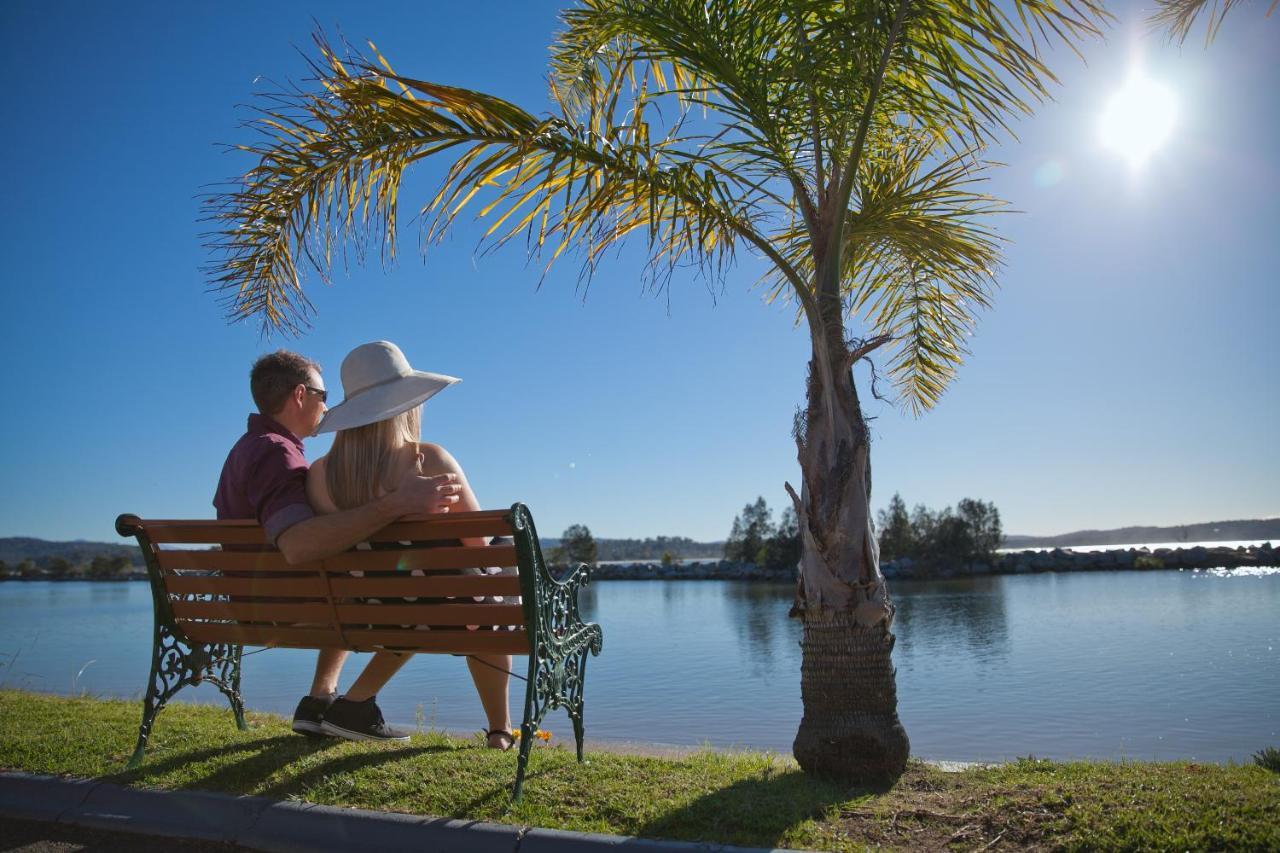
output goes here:
[{"label": "dark tree reflection on the water just right of palm trunk", "polygon": [[1009,656],[1004,578],[899,580],[895,653],[964,656],[1000,661]]}]

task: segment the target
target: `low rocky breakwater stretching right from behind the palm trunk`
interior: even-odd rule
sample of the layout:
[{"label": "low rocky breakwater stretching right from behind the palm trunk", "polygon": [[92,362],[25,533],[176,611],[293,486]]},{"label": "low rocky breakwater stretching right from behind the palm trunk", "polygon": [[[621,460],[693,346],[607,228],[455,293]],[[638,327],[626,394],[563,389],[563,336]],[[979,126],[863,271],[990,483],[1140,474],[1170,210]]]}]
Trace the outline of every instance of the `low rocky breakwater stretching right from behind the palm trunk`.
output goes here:
[{"label": "low rocky breakwater stretching right from behind the palm trunk", "polygon": [[1194,546],[1190,548],[1114,548],[1110,551],[1009,551],[991,562],[929,565],[910,557],[881,565],[886,578],[963,578],[1025,575],[1041,571],[1151,571],[1156,569],[1242,569],[1280,566],[1280,548],[1261,546]]}]

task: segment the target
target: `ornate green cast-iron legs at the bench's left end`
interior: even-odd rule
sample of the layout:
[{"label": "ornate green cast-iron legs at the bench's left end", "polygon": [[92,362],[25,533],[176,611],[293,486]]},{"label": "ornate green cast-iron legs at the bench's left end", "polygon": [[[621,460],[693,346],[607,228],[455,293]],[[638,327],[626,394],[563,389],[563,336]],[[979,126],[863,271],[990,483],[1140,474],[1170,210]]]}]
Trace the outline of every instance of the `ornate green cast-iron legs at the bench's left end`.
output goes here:
[{"label": "ornate green cast-iron legs at the bench's left end", "polygon": [[142,725],[138,743],[129,758],[132,770],[142,763],[151,738],[151,726],[173,695],[188,684],[207,680],[230,701],[236,725],[244,730],[244,703],[239,694],[242,647],[227,643],[191,646],[178,639],[165,625],[156,625],[151,644],[151,678],[142,699]]}]

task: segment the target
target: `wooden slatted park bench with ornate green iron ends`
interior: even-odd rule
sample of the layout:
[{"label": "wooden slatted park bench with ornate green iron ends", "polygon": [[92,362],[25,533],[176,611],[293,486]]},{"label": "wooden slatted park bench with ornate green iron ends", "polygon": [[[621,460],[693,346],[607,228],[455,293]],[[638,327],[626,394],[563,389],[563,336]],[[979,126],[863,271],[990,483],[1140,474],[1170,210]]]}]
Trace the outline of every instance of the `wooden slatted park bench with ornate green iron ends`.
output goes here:
[{"label": "wooden slatted park bench with ornate green iron ends", "polygon": [[[188,684],[221,690],[246,727],[244,646],[527,654],[513,798],[552,708],[568,711],[582,761],[586,654],[599,654],[603,639],[599,625],[579,616],[577,590],[590,567],[553,576],[521,503],[396,523],[370,537],[367,549],[293,565],[252,520],[122,515],[115,529],[137,537],[155,606],[151,679],[131,767],[142,761],[156,715]],[[480,537],[500,538],[460,543]],[[504,571],[493,574],[495,567]]]}]

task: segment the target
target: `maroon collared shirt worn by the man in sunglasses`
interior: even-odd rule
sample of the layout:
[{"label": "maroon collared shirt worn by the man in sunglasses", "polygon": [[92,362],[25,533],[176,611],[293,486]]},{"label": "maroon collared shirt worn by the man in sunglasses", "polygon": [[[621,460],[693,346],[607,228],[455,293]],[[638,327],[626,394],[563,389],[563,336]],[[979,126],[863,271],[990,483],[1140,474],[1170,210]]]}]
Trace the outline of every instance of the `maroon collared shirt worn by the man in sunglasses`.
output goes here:
[{"label": "maroon collared shirt worn by the man in sunglasses", "polygon": [[307,460],[302,439],[266,415],[250,415],[247,432],[232,447],[218,480],[219,519],[257,519],[275,542],[315,516],[307,503]]}]

